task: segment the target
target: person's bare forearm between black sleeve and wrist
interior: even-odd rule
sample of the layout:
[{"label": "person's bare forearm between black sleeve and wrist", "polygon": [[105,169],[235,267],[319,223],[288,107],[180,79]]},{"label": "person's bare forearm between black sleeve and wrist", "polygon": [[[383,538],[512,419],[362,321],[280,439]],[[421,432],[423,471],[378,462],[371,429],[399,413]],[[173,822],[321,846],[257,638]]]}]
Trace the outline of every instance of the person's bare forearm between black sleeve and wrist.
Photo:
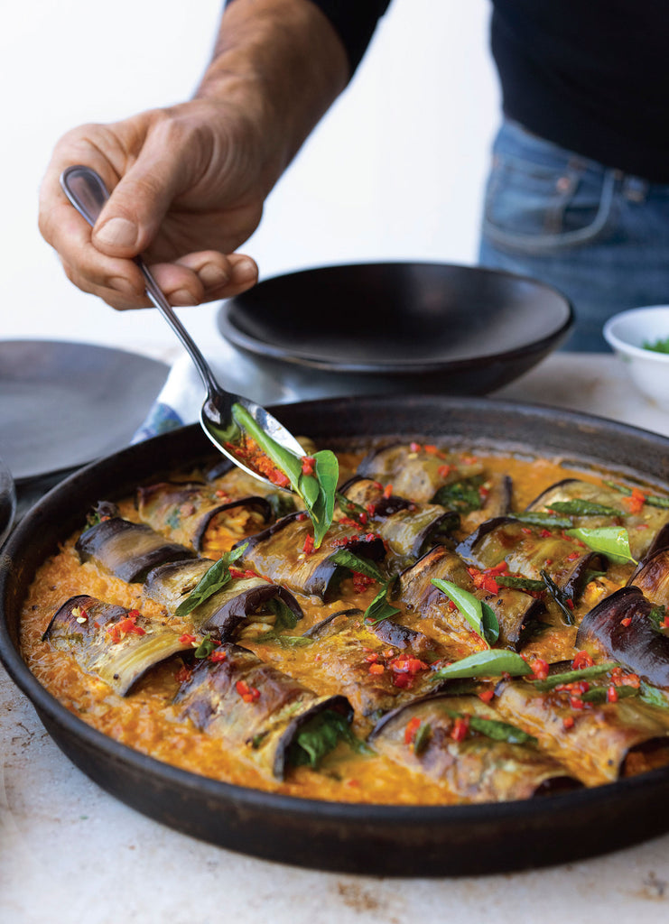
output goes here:
[{"label": "person's bare forearm between black sleeve and wrist", "polygon": [[348,77],[344,46],[310,0],[234,0],[196,95],[243,108],[269,191]]}]

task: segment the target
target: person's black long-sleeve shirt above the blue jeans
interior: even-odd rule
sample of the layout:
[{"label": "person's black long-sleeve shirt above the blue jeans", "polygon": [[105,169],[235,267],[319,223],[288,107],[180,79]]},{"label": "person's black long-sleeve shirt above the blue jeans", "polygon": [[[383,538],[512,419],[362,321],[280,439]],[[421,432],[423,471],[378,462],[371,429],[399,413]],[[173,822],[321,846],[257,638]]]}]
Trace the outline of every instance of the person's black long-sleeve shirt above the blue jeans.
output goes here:
[{"label": "person's black long-sleeve shirt above the blue jeans", "polygon": [[[355,69],[389,0],[312,2]],[[602,164],[669,182],[665,0],[493,0],[491,37],[506,116]]]}]

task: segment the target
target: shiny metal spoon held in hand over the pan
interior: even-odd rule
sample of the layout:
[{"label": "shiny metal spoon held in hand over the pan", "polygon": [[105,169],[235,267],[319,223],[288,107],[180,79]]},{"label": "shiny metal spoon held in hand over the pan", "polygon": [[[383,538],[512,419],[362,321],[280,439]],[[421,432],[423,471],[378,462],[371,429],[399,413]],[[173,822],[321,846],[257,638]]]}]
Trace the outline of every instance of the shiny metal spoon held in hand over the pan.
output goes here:
[{"label": "shiny metal spoon held in hand over the pan", "polygon": [[[60,185],[67,199],[74,205],[79,214],[86,219],[91,227],[95,225],[98,216],[103,211],[104,203],[109,199],[109,193],[102,178],[94,170],[91,170],[91,167],[71,166],[67,167],[61,174]],[[164,297],[164,293],[149,272],[146,263],[141,257],[135,257],[135,262],[144,276],[146,294],[151,298],[153,305],[162,313],[165,321],[171,325],[176,336],[188,350],[190,359],[193,360],[197,370],[200,372],[202,383],[204,383],[207,390],[207,397],[200,412],[202,429],[212,443],[235,465],[243,468],[254,478],[271,483],[253,468],[249,468],[244,459],[237,454],[242,444],[242,431],[233,417],[233,405],[239,404],[246,408],[261,430],[271,436],[276,443],[281,444],[293,453],[297,453],[298,456],[305,455],[304,449],[298,444],[295,437],[264,407],[257,405],[254,401],[249,401],[249,398],[226,392],[219,385],[209,364],[202,356],[198,346],[191,339],[188,331],[177,319],[172,307]]]}]

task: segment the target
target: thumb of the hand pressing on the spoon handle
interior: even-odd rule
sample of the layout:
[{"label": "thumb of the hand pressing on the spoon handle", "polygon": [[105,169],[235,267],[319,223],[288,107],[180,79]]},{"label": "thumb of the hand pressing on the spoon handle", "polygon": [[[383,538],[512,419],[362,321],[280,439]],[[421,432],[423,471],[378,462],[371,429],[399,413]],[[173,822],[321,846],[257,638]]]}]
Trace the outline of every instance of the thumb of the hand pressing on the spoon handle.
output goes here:
[{"label": "thumb of the hand pressing on the spoon handle", "polygon": [[93,228],[95,247],[110,257],[135,257],[157,236],[183,168],[178,150],[165,150],[149,134],[140,156],[122,176]]}]

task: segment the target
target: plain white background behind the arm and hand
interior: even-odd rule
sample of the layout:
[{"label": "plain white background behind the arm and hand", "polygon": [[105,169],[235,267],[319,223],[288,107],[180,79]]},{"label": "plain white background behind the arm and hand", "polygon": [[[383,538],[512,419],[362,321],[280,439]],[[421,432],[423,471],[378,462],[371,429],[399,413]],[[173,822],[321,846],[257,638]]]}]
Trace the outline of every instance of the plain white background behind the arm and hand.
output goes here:
[{"label": "plain white background behind the arm and hand", "polygon": [[[37,230],[37,191],[68,128],[189,97],[220,0],[0,6],[0,339],[164,354],[176,341],[152,310],[117,313],[67,281]],[[498,119],[489,7],[394,0],[353,82],[274,189],[245,247],[262,277],[340,261],[475,261]],[[209,351],[215,344],[202,339],[215,338],[214,311],[182,312]]]}]

